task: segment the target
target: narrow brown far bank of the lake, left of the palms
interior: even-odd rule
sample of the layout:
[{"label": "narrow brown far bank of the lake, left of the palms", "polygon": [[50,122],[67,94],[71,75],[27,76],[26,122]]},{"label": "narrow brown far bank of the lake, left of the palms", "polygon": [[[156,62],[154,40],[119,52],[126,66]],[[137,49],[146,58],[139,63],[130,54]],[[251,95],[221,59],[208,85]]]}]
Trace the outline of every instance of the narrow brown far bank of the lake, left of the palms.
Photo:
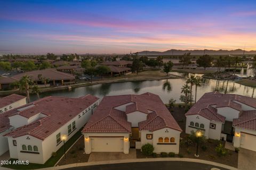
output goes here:
[{"label": "narrow brown far bank of the lake, left of the palms", "polygon": [[[43,87],[40,88],[41,93],[44,92],[53,92],[53,91],[61,91],[61,90],[67,90],[69,87],[71,88],[77,88],[77,87],[84,87],[84,86],[91,86],[91,85],[97,85],[97,84],[107,84],[107,83],[123,83],[123,82],[137,82],[137,81],[147,81],[147,80],[163,80],[163,79],[179,79],[180,76],[169,74],[169,76],[165,77],[149,77],[149,78],[128,78],[128,77],[122,77],[117,79],[110,79],[110,80],[99,80],[97,82],[86,82],[86,83],[78,83],[78,84],[71,84],[71,85],[65,85],[65,86],[55,86],[55,87]],[[12,90],[12,91],[0,91],[0,96],[6,96],[11,94],[25,94],[23,92],[20,92],[19,90]],[[31,93],[30,93],[31,94]]]}]

